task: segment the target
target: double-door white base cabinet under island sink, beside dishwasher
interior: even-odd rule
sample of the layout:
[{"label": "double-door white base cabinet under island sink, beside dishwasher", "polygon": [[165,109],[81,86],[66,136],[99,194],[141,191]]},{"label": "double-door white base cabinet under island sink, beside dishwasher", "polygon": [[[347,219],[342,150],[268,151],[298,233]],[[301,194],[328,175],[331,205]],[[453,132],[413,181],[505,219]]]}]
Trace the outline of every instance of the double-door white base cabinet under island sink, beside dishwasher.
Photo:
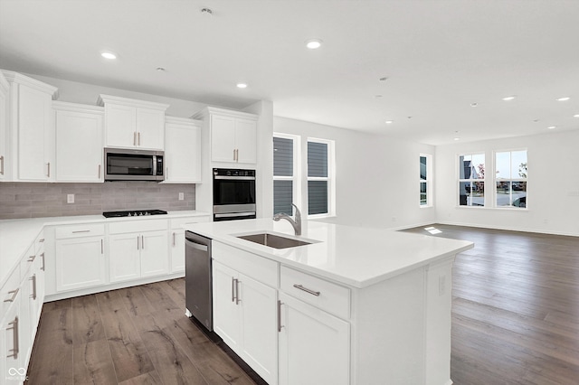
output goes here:
[{"label": "double-door white base cabinet under island sink, beside dishwasher", "polygon": [[214,330],[270,385],[278,383],[277,290],[214,261]]}]

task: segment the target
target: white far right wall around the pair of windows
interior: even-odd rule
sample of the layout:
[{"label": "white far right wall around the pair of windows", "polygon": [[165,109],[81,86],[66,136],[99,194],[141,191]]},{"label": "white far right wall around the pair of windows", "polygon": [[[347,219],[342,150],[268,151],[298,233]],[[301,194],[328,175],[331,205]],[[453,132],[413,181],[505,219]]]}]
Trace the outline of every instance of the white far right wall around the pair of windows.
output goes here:
[{"label": "white far right wall around the pair of windows", "polygon": [[[579,131],[519,136],[449,146],[435,153],[435,202],[438,221],[466,226],[579,235]],[[527,210],[457,207],[457,155],[486,153],[491,170],[494,151],[527,148]],[[490,174],[490,172],[488,173]],[[485,194],[493,194],[492,183]]]}]

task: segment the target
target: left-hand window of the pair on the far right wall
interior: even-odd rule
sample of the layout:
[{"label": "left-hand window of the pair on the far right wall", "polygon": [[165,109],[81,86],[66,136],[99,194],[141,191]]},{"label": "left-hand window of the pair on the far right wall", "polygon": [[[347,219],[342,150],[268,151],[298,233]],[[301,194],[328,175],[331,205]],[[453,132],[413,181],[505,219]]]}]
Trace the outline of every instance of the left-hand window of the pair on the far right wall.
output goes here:
[{"label": "left-hand window of the pair on the far right wall", "polygon": [[485,205],[485,155],[459,155],[459,205]]}]

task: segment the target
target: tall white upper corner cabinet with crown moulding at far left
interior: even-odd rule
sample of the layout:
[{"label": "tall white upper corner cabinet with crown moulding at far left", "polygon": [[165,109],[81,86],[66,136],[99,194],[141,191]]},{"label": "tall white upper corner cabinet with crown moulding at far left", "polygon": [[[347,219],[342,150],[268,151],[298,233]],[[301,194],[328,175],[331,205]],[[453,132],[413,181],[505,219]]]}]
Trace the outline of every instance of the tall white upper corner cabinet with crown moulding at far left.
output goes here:
[{"label": "tall white upper corner cabinet with crown moulding at far left", "polygon": [[10,83],[12,180],[54,181],[52,99],[58,89],[16,72],[3,72]]}]

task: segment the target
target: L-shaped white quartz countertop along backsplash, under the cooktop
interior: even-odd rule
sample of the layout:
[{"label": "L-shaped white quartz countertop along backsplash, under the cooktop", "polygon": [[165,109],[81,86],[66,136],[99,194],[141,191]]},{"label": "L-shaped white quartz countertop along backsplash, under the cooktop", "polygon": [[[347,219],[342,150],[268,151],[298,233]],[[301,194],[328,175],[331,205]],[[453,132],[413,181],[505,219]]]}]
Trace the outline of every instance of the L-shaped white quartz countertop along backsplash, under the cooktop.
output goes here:
[{"label": "L-shaped white quartz countertop along backsplash, under the cooktop", "polygon": [[12,273],[18,261],[33,244],[44,226],[80,223],[109,223],[113,221],[148,221],[152,219],[176,219],[182,217],[209,216],[204,211],[168,211],[166,215],[143,217],[105,218],[102,215],[79,215],[70,217],[46,217],[0,221],[0,287]]}]

